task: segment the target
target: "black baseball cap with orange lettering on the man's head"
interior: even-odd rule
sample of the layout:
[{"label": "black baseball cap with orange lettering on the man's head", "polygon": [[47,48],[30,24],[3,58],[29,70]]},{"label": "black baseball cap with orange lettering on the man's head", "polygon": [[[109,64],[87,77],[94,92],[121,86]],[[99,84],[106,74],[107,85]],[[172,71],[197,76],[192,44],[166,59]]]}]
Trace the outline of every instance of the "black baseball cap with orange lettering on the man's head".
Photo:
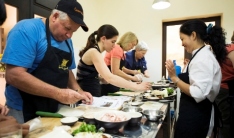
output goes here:
[{"label": "black baseball cap with orange lettering on the man's head", "polygon": [[83,8],[76,0],[60,0],[55,9],[67,13],[67,15],[77,24],[80,24],[82,29],[87,32],[89,28],[84,23]]}]

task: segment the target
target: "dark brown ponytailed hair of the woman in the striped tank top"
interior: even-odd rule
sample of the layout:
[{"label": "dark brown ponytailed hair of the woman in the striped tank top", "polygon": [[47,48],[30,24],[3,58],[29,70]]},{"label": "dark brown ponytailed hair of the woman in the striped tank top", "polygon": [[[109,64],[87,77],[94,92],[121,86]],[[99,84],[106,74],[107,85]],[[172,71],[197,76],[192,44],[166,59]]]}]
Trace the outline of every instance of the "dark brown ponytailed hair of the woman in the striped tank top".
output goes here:
[{"label": "dark brown ponytailed hair of the woman in the striped tank top", "polygon": [[[95,35],[97,35],[96,39],[95,39]],[[117,35],[119,35],[119,32],[114,26],[109,25],[109,24],[102,25],[97,31],[93,32],[89,36],[87,44],[85,48],[80,51],[79,56],[82,57],[87,50],[97,45],[97,42],[100,41],[100,38],[102,36],[105,36],[106,39],[111,39]]]}]

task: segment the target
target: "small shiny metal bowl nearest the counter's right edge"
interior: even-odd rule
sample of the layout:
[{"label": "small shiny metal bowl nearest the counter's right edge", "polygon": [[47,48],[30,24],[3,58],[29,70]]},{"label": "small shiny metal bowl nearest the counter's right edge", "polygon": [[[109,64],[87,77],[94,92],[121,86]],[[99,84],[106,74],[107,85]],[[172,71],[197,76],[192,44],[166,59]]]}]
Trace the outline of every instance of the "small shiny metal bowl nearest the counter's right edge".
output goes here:
[{"label": "small shiny metal bowl nearest the counter's right edge", "polygon": [[142,113],[150,121],[158,121],[163,117],[163,111],[160,110],[144,110]]}]

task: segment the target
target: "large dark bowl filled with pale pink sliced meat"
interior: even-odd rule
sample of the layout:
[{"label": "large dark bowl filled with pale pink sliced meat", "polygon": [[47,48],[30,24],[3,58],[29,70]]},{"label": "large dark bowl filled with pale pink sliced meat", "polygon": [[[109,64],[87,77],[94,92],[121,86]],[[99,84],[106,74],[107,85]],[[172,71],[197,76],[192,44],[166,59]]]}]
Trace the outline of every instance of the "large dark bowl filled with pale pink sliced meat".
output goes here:
[{"label": "large dark bowl filled with pale pink sliced meat", "polygon": [[105,132],[118,132],[121,127],[124,127],[131,116],[123,111],[106,110],[100,111],[94,116],[95,121],[99,127],[103,127]]}]

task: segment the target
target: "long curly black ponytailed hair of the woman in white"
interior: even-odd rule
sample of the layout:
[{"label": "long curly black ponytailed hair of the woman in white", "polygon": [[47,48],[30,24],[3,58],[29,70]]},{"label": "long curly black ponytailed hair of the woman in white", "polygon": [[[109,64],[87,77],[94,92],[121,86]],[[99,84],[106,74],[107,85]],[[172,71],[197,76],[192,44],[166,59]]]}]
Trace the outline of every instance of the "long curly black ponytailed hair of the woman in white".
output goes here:
[{"label": "long curly black ponytailed hair of the woman in white", "polygon": [[212,25],[207,27],[205,22],[199,19],[194,19],[185,22],[180,27],[180,32],[188,36],[190,36],[192,32],[196,32],[198,39],[212,47],[219,63],[222,63],[226,59],[226,33],[221,27],[212,27]]}]

